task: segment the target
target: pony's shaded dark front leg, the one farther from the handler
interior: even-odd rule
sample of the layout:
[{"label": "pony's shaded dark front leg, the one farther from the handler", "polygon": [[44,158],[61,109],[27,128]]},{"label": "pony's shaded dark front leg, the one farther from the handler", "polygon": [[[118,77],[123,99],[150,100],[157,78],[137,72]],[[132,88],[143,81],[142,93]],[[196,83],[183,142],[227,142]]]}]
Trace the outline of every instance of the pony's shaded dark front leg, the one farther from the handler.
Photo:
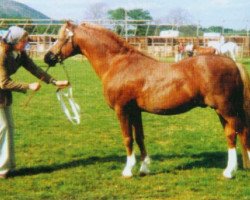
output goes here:
[{"label": "pony's shaded dark front leg, the one farther from the handler", "polygon": [[140,175],[145,176],[149,174],[149,164],[150,158],[147,155],[147,151],[144,144],[144,131],[142,126],[142,116],[140,110],[134,110],[132,114],[132,124],[135,130],[135,139],[136,143],[139,146],[141,152],[141,167],[140,167]]}]

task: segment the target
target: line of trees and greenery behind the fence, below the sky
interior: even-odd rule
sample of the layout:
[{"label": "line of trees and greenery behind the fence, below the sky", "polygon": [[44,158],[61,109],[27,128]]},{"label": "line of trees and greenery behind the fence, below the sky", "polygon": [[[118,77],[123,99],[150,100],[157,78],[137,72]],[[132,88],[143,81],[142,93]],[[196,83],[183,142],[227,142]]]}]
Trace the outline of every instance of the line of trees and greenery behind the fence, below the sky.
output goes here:
[{"label": "line of trees and greenery behind the fence, below the sky", "polygon": [[[201,27],[192,22],[192,16],[183,8],[174,8],[170,10],[164,19],[153,19],[148,10],[141,8],[126,10],[125,8],[107,9],[105,3],[91,4],[86,9],[85,20],[114,20],[121,21],[116,23],[111,29],[120,35],[127,36],[159,36],[164,30],[178,30],[180,36],[203,36],[205,32],[217,32],[224,35],[247,35],[246,30],[234,30],[222,26]],[[126,22],[125,22],[126,21]],[[154,23],[152,23],[154,22]],[[7,28],[9,24],[15,22],[6,21],[1,24],[1,28]],[[55,34],[59,26],[47,26],[40,23],[35,24],[32,19],[28,21],[26,26],[28,32],[32,34]],[[62,21],[54,20],[53,23],[62,23]],[[126,25],[126,27],[125,27]]]}]

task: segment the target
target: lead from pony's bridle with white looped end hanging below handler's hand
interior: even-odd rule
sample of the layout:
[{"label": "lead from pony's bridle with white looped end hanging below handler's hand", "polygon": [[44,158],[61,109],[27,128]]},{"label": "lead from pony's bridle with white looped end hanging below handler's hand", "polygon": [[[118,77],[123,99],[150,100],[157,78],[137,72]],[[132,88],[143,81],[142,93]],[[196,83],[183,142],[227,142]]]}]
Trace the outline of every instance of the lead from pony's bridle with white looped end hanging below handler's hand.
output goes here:
[{"label": "lead from pony's bridle with white looped end hanging below handler's hand", "polygon": [[[70,78],[69,78],[69,74],[66,70],[66,67],[63,63],[61,63],[61,65],[63,66],[63,70],[66,74],[66,77],[68,79],[68,81],[70,82]],[[67,91],[65,92],[65,90],[67,89]],[[75,102],[74,98],[73,98],[73,89],[71,86],[64,88],[64,89],[60,89],[58,88],[56,91],[56,96],[58,101],[61,104],[61,108],[64,112],[64,114],[66,115],[66,117],[68,118],[68,120],[70,122],[72,122],[73,124],[80,124],[80,106]],[[65,103],[65,100],[68,101],[68,107]]]}]

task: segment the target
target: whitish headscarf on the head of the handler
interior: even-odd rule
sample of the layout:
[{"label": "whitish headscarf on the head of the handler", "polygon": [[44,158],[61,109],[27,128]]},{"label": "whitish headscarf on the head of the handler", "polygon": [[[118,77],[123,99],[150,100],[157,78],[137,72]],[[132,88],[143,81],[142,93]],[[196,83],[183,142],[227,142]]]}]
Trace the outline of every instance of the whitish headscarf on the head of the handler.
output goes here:
[{"label": "whitish headscarf on the head of the handler", "polygon": [[23,28],[18,26],[11,26],[8,32],[4,35],[3,39],[8,43],[15,45],[27,33]]}]

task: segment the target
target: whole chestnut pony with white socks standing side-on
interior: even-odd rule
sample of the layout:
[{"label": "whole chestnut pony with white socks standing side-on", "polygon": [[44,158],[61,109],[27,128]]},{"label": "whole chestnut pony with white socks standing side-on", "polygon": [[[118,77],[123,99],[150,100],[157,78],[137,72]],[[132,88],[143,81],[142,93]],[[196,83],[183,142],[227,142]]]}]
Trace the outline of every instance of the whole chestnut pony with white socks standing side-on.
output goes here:
[{"label": "whole chestnut pony with white socks standing side-on", "polygon": [[244,167],[250,168],[250,85],[241,65],[219,55],[195,56],[167,64],[139,52],[103,27],[67,22],[45,55],[45,62],[53,66],[75,54],[88,58],[102,81],[108,105],[117,114],[127,151],[123,176],[131,177],[136,163],[134,138],[141,152],[140,174],[149,173],[143,111],[173,115],[197,106],[213,108],[224,127],[228,164],[223,175],[231,178],[236,172],[237,135],[243,147]]}]

